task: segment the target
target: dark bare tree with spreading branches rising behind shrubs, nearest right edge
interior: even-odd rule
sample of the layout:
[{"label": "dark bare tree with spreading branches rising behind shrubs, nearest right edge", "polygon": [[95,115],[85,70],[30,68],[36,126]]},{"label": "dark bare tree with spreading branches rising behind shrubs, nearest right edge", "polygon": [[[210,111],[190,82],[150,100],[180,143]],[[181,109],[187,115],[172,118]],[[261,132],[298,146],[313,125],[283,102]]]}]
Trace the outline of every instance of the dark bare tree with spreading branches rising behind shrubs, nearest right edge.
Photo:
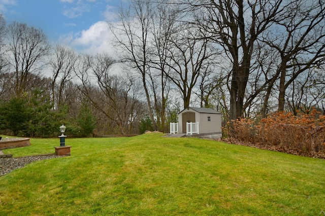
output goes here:
[{"label": "dark bare tree with spreading branches rising behind shrubs, nearest right edge", "polygon": [[[263,42],[278,52],[278,110],[284,110],[285,91],[299,75],[325,60],[323,1],[287,1],[265,32]],[[274,59],[275,60],[275,59]]]}]

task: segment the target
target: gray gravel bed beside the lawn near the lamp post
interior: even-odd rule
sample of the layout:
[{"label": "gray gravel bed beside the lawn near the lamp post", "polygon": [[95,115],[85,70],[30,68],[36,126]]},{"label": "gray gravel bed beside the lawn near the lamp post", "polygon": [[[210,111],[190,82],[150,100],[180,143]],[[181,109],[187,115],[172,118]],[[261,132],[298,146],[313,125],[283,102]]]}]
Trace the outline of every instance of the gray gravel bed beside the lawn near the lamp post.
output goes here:
[{"label": "gray gravel bed beside the lawn near the lamp post", "polygon": [[31,162],[45,160],[50,158],[66,157],[61,155],[42,155],[42,156],[29,156],[21,158],[0,158],[0,176],[11,172],[14,169],[21,168]]}]

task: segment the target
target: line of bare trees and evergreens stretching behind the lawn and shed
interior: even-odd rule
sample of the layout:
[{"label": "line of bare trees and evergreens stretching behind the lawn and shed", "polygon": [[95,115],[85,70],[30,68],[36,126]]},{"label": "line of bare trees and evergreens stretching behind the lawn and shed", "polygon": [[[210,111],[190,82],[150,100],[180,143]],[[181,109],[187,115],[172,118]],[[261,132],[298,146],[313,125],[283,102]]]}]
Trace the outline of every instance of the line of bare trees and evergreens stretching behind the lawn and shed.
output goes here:
[{"label": "line of bare trees and evergreens stretching behind the lawn and shed", "polygon": [[[51,47],[41,29],[1,17],[0,127],[43,136],[65,121],[78,136],[168,132],[187,106],[211,107],[225,121],[311,107],[324,114],[323,3],[131,0],[108,23],[114,55]],[[20,100],[27,129],[9,125]]]}]

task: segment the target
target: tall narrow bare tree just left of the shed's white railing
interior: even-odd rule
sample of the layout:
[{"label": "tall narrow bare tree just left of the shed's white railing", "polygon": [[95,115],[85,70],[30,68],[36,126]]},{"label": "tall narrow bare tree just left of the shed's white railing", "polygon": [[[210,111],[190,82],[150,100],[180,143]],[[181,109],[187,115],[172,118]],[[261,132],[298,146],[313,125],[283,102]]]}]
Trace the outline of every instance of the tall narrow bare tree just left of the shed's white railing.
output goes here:
[{"label": "tall narrow bare tree just left of the shed's white railing", "polygon": [[151,20],[152,49],[150,67],[148,74],[150,89],[154,99],[154,109],[157,119],[157,128],[160,131],[167,131],[166,112],[170,93],[170,80],[166,74],[170,73],[168,66],[168,53],[171,50],[170,38],[175,31],[177,12],[167,4],[157,5],[154,16]]}]

